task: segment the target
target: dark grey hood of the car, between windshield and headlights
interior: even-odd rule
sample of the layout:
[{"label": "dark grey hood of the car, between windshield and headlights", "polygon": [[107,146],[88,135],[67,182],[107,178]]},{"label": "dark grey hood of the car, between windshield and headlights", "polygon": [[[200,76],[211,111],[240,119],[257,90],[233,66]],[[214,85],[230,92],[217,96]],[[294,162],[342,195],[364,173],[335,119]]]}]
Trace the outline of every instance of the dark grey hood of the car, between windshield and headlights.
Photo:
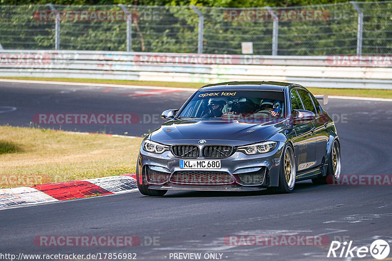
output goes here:
[{"label": "dark grey hood of the car, between windshield and headlights", "polygon": [[206,140],[206,144],[241,146],[264,141],[284,128],[286,124],[282,119],[258,123],[222,119],[175,119],[153,131],[149,138],[166,145],[197,144],[199,140]]}]

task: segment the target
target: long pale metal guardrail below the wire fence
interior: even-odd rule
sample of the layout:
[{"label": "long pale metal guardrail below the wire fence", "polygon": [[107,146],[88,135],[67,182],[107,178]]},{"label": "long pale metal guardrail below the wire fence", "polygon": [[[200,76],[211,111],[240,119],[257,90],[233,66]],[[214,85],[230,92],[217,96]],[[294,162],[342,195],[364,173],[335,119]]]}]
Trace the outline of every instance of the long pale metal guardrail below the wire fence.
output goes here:
[{"label": "long pale metal guardrail below the wire fence", "polygon": [[392,56],[0,50],[0,77],[201,84],[264,80],[305,87],[392,89]]}]

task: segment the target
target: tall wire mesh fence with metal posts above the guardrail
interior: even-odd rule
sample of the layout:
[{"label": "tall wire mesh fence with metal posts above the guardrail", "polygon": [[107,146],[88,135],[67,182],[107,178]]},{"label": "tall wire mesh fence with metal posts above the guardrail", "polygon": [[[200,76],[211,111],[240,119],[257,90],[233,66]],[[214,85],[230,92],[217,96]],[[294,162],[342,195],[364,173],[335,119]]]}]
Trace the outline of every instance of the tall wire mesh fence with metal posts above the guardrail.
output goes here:
[{"label": "tall wire mesh fence with metal posts above the guardrail", "polygon": [[288,8],[0,5],[0,49],[255,55],[392,53],[392,1]]}]

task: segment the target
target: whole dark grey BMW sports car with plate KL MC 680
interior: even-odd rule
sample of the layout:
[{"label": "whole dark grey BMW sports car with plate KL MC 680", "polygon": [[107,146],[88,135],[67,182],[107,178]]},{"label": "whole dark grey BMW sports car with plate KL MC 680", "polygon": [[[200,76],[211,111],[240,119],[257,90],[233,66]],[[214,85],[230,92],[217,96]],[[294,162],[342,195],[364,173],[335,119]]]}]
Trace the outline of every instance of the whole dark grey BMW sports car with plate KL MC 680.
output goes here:
[{"label": "whole dark grey BMW sports car with plate KL MC 680", "polygon": [[162,118],[168,121],[140,148],[137,184],[143,195],[267,188],[289,193],[299,180],[323,184],[340,177],[335,124],[297,84],[206,85]]}]

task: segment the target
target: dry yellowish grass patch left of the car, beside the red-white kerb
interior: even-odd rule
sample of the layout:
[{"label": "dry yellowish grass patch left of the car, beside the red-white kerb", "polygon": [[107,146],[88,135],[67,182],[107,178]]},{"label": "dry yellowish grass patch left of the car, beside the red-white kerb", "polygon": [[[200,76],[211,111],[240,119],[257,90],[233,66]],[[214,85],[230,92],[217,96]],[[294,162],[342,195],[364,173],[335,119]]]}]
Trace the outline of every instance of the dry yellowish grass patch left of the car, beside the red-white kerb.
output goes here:
[{"label": "dry yellowish grass patch left of the car, beside the red-white kerb", "polygon": [[142,139],[0,126],[0,188],[135,173]]}]

